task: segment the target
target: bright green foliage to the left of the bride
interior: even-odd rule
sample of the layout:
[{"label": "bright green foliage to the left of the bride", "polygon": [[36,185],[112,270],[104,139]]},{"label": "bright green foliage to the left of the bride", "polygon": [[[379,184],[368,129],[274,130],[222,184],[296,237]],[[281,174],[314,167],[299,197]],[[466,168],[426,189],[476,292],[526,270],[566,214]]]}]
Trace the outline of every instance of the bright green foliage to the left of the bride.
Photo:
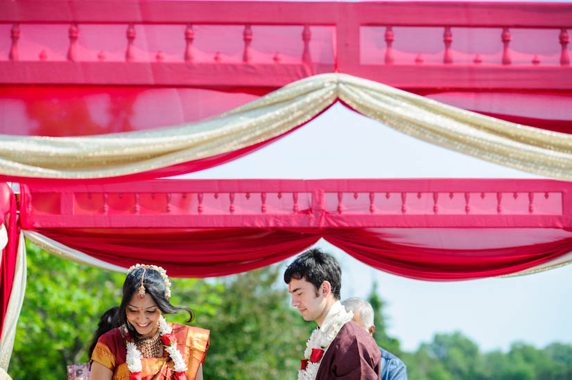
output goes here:
[{"label": "bright green foliage to the left of the bride", "polygon": [[55,257],[27,244],[28,278],[8,372],[14,379],[65,379],[87,359],[103,311],[121,296],[124,275]]}]

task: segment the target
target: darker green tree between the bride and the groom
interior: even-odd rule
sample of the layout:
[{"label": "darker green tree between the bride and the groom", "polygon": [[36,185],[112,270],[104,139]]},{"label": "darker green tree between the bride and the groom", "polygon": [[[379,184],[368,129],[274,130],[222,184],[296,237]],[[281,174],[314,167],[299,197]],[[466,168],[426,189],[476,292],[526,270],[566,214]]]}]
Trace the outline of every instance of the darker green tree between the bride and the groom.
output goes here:
[{"label": "darker green tree between the bride and the groom", "polygon": [[[205,379],[293,379],[315,323],[290,307],[279,266],[223,278],[211,329]],[[200,316],[198,317],[200,319]]]}]

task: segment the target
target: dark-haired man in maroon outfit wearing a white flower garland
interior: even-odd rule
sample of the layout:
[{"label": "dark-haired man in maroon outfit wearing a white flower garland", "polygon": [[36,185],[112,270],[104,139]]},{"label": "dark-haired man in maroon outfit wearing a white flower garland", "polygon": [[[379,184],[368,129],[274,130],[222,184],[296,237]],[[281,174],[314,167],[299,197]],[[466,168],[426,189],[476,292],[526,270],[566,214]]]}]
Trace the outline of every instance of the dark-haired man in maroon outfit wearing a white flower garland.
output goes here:
[{"label": "dark-haired man in maroon outfit wearing a white flower garland", "polygon": [[340,303],[342,270],[331,255],[310,249],[286,272],[292,306],[318,328],[306,343],[298,379],[379,379],[379,348]]}]

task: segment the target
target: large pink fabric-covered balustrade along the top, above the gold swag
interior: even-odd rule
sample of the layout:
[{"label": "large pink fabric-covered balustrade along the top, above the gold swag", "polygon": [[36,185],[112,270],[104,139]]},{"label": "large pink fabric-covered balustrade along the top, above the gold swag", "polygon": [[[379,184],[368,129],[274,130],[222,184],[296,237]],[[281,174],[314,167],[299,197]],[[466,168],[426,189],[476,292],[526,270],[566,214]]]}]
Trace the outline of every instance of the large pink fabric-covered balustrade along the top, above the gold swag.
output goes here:
[{"label": "large pink fabric-covered balustrade along the top, above the gold swag", "polygon": [[570,3],[3,1],[0,82],[275,88],[340,71],[406,89],[570,91],[570,28]]}]

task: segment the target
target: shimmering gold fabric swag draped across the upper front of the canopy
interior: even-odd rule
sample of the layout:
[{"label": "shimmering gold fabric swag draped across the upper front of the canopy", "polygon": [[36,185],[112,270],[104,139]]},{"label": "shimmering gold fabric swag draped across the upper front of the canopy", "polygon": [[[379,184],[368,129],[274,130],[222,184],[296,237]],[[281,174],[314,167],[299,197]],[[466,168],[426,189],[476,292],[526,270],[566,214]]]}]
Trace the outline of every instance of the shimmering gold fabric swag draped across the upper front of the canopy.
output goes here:
[{"label": "shimmering gold fabric swag draped across the upper front of the canopy", "polygon": [[336,100],[428,143],[526,172],[572,181],[572,136],[444,105],[352,75],[329,73],[198,123],[87,137],[0,135],[0,174],[118,177],[239,150],[284,134]]}]

